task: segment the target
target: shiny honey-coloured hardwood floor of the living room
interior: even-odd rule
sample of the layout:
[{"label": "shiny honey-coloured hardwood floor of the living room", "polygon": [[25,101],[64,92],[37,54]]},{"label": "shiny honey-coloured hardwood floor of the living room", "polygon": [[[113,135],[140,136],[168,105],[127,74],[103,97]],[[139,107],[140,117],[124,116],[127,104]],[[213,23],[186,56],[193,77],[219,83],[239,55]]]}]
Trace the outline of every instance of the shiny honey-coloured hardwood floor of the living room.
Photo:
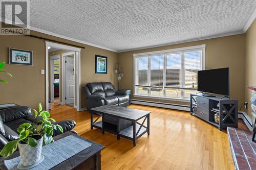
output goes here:
[{"label": "shiny honey-coloured hardwood floor of the living room", "polygon": [[102,169],[234,169],[225,131],[189,112],[134,104],[129,107],[152,111],[151,134],[140,137],[136,147],[131,140],[117,140],[98,129],[91,131],[89,111],[54,105],[50,113],[56,120],[74,119],[79,135],[105,145]]}]

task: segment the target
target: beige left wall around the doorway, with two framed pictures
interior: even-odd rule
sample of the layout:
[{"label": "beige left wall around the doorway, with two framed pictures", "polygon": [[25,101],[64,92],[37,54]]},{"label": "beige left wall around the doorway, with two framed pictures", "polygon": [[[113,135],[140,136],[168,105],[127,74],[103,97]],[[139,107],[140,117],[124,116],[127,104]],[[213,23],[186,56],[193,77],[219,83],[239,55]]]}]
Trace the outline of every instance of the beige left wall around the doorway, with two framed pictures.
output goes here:
[{"label": "beige left wall around the doorway, with two framed pictures", "polygon": [[[117,62],[117,53],[34,31],[31,31],[30,34],[85,47],[81,49],[81,87],[87,82],[115,83],[114,63]],[[5,69],[11,72],[13,78],[1,75],[1,78],[8,80],[9,84],[0,85],[0,103],[14,102],[36,108],[40,102],[45,108],[46,78],[45,75],[40,74],[40,70],[45,69],[46,65],[45,41],[28,36],[0,36],[0,61],[8,63],[8,47],[33,51],[34,65],[6,65]],[[95,74],[96,54],[108,57],[108,74]],[[81,107],[83,108],[86,107],[86,99],[82,88],[80,90]]]}]

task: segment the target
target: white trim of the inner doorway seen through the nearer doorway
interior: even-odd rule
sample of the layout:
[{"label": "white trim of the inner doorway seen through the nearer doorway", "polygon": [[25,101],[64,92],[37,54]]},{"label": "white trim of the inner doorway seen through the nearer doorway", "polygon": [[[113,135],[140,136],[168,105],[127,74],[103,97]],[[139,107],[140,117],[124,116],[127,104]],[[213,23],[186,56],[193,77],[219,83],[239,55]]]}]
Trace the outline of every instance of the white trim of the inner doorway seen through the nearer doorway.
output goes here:
[{"label": "white trim of the inner doorway seen through the nearer doorway", "polygon": [[[65,65],[65,60],[66,60],[66,57],[69,57],[69,56],[74,56],[74,59],[75,59],[75,52],[68,52],[68,53],[63,53],[61,54],[62,55],[62,64],[61,64],[61,72],[62,72],[62,75],[61,75],[61,80],[62,80],[62,104],[65,105],[66,104],[66,90],[67,90],[67,86],[66,86],[66,65]],[[74,60],[75,61],[75,60]],[[74,63],[74,68],[76,70],[76,64]],[[75,72],[75,76],[76,75],[76,72]],[[78,90],[78,89],[76,89]],[[74,99],[75,100],[75,99]],[[76,101],[77,102],[77,101]],[[77,104],[77,103],[76,103]],[[74,107],[75,107],[75,101],[74,101]]]}]

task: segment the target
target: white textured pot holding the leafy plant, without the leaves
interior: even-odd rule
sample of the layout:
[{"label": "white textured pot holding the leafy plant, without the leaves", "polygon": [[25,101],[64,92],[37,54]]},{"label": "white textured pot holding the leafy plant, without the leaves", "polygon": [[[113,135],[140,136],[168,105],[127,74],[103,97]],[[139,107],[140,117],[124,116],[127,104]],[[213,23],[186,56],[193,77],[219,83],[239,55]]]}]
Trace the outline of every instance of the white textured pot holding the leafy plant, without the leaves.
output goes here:
[{"label": "white textured pot holding the leafy plant, without the leaves", "polygon": [[41,158],[42,138],[38,140],[36,147],[30,147],[28,144],[18,143],[20,154],[20,163],[29,166],[38,162]]}]

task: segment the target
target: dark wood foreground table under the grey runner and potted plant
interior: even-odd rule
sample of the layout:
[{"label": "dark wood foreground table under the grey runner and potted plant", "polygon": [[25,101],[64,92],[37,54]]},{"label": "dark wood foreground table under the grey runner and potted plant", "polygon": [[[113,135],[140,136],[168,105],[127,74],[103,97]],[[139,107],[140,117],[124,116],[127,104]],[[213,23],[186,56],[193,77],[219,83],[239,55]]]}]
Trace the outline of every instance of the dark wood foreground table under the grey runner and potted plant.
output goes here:
[{"label": "dark wood foreground table under the grey runner and potted plant", "polygon": [[[69,159],[61,162],[60,164],[54,166],[51,169],[57,170],[57,169],[101,169],[101,162],[100,162],[100,151],[104,149],[105,147],[101,144],[95,143],[91,140],[88,140],[86,138],[83,138],[81,136],[78,136],[72,132],[66,132],[62,133],[58,136],[53,137],[53,139],[59,140],[63,137],[74,135],[82,140],[88,141],[92,143],[91,147],[79,152],[78,154],[70,157]],[[7,170],[4,161],[8,159],[13,159],[15,157],[19,156],[19,152],[14,152],[11,156],[8,158],[0,158],[0,169]]]}]

